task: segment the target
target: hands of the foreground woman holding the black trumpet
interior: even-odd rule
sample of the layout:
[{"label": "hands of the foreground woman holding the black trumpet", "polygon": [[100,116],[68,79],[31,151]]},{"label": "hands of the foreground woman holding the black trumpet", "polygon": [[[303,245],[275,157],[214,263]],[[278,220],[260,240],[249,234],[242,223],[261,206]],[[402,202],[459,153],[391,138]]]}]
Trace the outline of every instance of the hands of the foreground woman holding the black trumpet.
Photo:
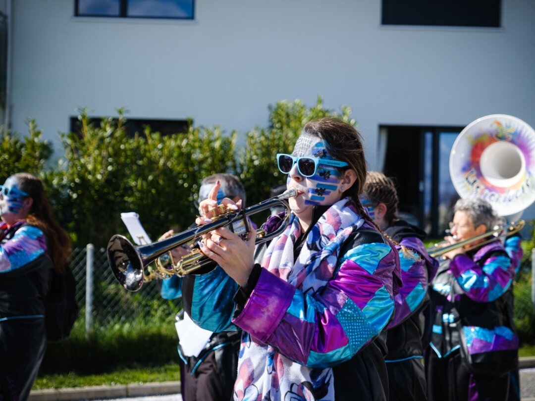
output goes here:
[{"label": "hands of the foreground woman holding the black trumpet", "polygon": [[[212,221],[209,217],[211,217],[212,209],[218,206],[217,191],[219,187],[220,183],[217,181],[210,190],[208,198],[199,204],[201,216],[195,220],[197,225],[204,225]],[[241,200],[235,203],[232,199],[224,198],[221,204],[236,212],[241,209]],[[205,256],[215,261],[236,283],[243,286],[255,264],[256,230],[254,228],[249,231],[247,238],[247,241],[243,241],[230,229],[220,227],[204,234],[199,245]]]}]

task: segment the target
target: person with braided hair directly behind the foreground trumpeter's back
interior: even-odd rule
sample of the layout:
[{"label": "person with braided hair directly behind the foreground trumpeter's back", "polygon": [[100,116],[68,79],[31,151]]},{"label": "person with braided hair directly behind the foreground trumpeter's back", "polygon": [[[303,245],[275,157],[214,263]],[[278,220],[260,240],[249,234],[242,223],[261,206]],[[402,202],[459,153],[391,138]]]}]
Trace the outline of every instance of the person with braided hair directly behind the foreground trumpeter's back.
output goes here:
[{"label": "person with braided hair directly behind the foreground trumpeter's back", "polygon": [[398,217],[398,192],[392,179],[370,171],[362,204],[368,208],[373,221],[399,243],[403,287],[394,298],[394,319],[386,332],[389,399],[426,400],[422,361],[427,341],[424,340],[423,310],[429,302],[427,283],[437,273],[438,261],[427,254],[422,242],[426,233]]}]

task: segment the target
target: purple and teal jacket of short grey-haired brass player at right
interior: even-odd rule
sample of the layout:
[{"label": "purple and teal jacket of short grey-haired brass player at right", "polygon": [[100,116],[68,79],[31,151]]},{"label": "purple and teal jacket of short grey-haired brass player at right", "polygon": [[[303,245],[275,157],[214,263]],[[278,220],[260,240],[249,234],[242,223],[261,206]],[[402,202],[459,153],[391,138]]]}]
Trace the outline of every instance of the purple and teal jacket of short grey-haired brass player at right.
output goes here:
[{"label": "purple and teal jacket of short grey-haired brass player at right", "polygon": [[[514,253],[519,255],[518,249]],[[440,358],[459,349],[461,340],[472,358],[501,351],[504,357],[516,355],[518,337],[508,305],[516,266],[500,241],[441,264],[432,283],[430,343]]]}]

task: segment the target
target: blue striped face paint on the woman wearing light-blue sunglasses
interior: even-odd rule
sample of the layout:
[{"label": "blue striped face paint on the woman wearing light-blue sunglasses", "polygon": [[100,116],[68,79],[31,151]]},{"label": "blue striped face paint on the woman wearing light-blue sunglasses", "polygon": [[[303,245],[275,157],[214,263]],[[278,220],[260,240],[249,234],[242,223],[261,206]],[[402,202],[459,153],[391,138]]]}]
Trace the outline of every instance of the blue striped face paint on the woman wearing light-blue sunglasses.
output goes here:
[{"label": "blue striped face paint on the woman wearing light-blue sunglasses", "polygon": [[[292,156],[334,160],[322,139],[305,133],[297,139]],[[291,176],[292,174],[288,174],[288,187],[291,186]],[[339,192],[341,178],[339,168],[322,164],[320,161],[316,173],[302,181],[302,186],[307,187],[308,196],[305,197],[305,205],[332,205],[338,202],[341,197]]]}]

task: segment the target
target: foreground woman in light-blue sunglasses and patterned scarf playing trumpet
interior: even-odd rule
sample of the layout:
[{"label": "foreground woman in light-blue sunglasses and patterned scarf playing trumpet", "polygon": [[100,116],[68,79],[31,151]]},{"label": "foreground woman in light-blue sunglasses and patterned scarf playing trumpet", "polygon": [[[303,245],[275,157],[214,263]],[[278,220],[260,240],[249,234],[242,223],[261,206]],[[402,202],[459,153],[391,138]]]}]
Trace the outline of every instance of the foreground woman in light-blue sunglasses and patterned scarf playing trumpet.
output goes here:
[{"label": "foreground woman in light-blue sunglasses and patterned scarf playing trumpet", "polygon": [[[235,399],[387,399],[379,334],[401,285],[399,258],[360,204],[361,136],[337,119],[309,122],[278,165],[298,194],[289,225],[256,249],[252,231],[246,242],[227,228],[209,233],[201,251],[218,266],[185,277],[185,309],[204,328],[243,329]],[[264,228],[280,223],[275,215]]]}]

